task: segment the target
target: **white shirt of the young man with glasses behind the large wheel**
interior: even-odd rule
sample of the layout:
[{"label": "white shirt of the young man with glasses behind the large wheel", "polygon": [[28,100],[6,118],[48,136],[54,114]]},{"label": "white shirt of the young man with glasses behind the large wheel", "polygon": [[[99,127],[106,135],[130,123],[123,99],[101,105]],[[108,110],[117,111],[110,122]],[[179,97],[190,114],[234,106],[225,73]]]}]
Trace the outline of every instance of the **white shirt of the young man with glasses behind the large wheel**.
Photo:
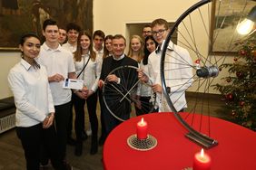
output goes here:
[{"label": "white shirt of the young man with glasses behind the large wheel", "polygon": [[[166,53],[164,63],[165,83],[167,87],[171,88],[170,99],[174,108],[179,111],[180,109],[187,108],[185,90],[192,86],[192,67],[188,66],[192,66],[192,59],[186,49],[172,42],[169,42]],[[155,84],[162,86],[160,73],[161,55],[162,51],[152,52],[149,56],[148,65],[150,77],[153,78]],[[167,105],[163,97],[163,91],[162,94],[157,93],[156,101],[159,111],[173,111]]]}]

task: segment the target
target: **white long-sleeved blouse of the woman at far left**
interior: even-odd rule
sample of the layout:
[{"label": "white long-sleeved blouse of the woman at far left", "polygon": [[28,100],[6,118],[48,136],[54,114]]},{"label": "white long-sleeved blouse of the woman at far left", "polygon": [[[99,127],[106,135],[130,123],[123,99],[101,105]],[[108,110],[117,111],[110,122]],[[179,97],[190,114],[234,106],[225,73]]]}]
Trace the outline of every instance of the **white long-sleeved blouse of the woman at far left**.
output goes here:
[{"label": "white long-sleeved blouse of the woman at far left", "polygon": [[15,97],[16,127],[32,127],[54,112],[54,102],[44,66],[34,69],[21,60],[11,69],[8,81]]}]

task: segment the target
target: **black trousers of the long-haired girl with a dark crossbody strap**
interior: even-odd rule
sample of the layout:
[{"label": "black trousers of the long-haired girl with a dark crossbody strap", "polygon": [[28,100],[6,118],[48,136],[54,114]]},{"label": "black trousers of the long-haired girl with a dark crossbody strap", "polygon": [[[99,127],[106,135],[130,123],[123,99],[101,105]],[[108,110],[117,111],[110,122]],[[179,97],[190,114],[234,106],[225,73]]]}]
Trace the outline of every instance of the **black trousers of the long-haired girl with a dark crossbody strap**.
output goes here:
[{"label": "black trousers of the long-haired girl with a dark crossbody strap", "polygon": [[87,104],[87,110],[89,114],[89,120],[92,128],[92,137],[97,138],[98,134],[98,118],[96,115],[97,108],[97,93],[92,94],[88,99],[80,99],[76,94],[73,96],[74,99],[74,129],[76,139],[82,140],[82,133],[84,131],[84,105]]}]

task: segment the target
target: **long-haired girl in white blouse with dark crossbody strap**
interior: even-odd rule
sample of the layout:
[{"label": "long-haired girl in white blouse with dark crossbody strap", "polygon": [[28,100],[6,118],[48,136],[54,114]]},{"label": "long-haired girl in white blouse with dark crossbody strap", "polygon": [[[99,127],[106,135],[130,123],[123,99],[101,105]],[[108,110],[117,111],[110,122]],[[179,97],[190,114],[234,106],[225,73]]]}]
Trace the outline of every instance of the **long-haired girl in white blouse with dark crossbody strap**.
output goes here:
[{"label": "long-haired girl in white blouse with dark crossbody strap", "polygon": [[[88,92],[74,91],[74,128],[76,134],[76,146],[74,154],[81,156],[83,153],[82,132],[84,127],[84,105],[87,103],[87,110],[92,128],[92,144],[90,154],[98,151],[98,118],[96,115],[98,80],[101,71],[101,59],[96,57],[93,48],[93,41],[90,33],[82,31],[78,37],[77,51],[74,52],[75,71],[77,79],[84,80],[84,86]],[[80,75],[79,75],[80,74]]]}]

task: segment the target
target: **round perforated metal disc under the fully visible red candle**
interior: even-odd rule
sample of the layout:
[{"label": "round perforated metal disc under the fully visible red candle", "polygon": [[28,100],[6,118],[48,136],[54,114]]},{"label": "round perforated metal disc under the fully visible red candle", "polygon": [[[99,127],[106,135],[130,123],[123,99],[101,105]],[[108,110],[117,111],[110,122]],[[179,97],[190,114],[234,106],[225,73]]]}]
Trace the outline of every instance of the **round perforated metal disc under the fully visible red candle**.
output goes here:
[{"label": "round perforated metal disc under the fully visible red candle", "polygon": [[127,138],[127,144],[135,150],[147,151],[157,146],[157,140],[151,135],[148,135],[145,139],[138,139],[137,135],[133,134]]}]

